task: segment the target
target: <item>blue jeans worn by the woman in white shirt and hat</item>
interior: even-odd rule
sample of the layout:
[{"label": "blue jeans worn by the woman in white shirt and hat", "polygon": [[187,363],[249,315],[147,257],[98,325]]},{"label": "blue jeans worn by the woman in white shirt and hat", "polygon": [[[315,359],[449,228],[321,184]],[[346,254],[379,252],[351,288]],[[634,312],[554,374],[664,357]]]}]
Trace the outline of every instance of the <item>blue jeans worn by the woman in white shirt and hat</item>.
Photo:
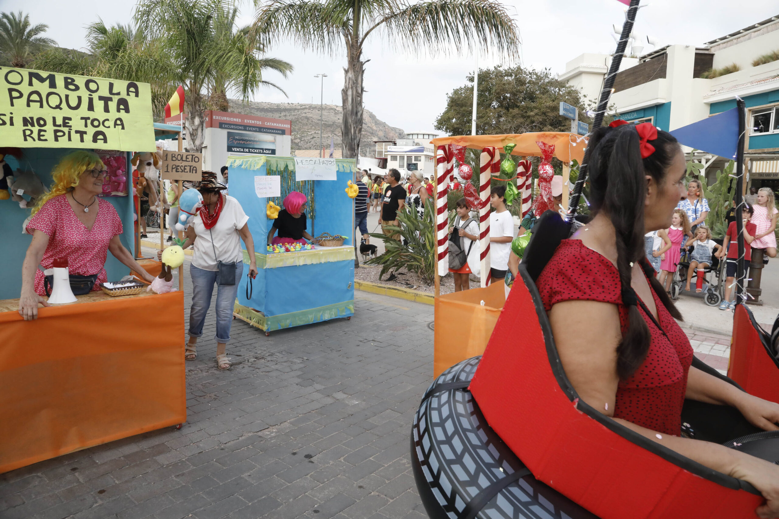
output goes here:
[{"label": "blue jeans worn by the woman in white shirt and hat", "polygon": [[[208,307],[211,305],[213,285],[219,281],[219,272],[203,270],[189,265],[192,275],[192,308],[189,310],[189,336],[202,337],[203,323],[206,322]],[[233,324],[235,296],[238,294],[238,282],[243,274],[243,262],[235,265],[235,284],[217,285],[217,342],[230,342],[230,328]]]}]

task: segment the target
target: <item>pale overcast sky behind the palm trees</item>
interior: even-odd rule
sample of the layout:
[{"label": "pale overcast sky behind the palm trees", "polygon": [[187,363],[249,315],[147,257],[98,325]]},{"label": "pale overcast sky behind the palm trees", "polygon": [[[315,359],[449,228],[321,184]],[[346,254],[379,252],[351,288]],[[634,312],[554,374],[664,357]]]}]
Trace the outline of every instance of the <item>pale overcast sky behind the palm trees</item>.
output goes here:
[{"label": "pale overcast sky behind the palm trees", "polygon": [[[779,15],[776,0],[643,0],[635,31],[648,34],[665,44],[702,45],[742,27]],[[84,26],[98,17],[106,24],[128,23],[134,0],[0,0],[3,11],[30,12],[32,23],[46,23],[47,35],[62,47],[85,46]],[[516,61],[532,68],[551,68],[565,72],[566,61],[584,52],[608,54],[614,51],[612,23],[622,25],[623,5],[617,0],[508,0],[507,9],[520,26],[523,45]],[[742,9],[749,5],[748,9]],[[251,2],[243,2],[241,24],[252,19]],[[646,51],[651,47],[647,46]],[[767,49],[770,51],[772,49]],[[275,103],[319,102],[319,72],[324,79],[324,102],[340,105],[344,86],[344,54],[325,57],[294,47],[289,42],[268,51],[270,56],[289,61],[294,72],[283,79],[275,72],[265,79],[284,88],[289,97],[276,89],[261,89],[257,101]],[[446,107],[446,94],[465,84],[465,76],[474,70],[474,56],[453,53],[449,56],[398,54],[385,40],[375,35],[365,48],[365,107],[379,119],[407,132],[430,132],[436,117]],[[480,57],[482,68],[502,63],[488,54]]]}]

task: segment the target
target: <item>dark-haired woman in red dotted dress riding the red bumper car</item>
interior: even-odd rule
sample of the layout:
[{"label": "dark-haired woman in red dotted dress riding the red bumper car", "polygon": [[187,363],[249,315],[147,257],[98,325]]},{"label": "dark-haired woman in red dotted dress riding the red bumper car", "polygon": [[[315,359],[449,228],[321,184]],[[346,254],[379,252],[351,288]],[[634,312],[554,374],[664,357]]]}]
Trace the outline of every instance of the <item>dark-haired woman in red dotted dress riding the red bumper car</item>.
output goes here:
[{"label": "dark-haired woman in red dotted dress riding the red bumper car", "polygon": [[[779,429],[779,405],[691,366],[681,315],[645,258],[643,235],[667,229],[686,197],[679,143],[650,123],[615,121],[588,146],[594,216],[562,240],[536,283],[566,376],[581,400],[623,426],[752,483],[767,500],[760,517],[779,517],[779,467],[717,444]],[[695,409],[735,408],[724,424],[733,436],[682,437],[685,399]]]}]

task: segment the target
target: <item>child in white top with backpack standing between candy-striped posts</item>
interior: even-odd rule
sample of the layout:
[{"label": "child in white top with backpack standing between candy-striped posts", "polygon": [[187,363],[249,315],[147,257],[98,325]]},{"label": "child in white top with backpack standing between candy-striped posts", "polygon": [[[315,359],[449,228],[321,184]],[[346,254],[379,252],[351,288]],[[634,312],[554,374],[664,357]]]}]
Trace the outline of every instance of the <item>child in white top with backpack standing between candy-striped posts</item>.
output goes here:
[{"label": "child in white top with backpack standing between candy-striped posts", "polygon": [[454,277],[454,291],[471,288],[469,276],[479,274],[479,224],[471,218],[465,198],[455,203],[457,216],[449,235],[449,272]]}]

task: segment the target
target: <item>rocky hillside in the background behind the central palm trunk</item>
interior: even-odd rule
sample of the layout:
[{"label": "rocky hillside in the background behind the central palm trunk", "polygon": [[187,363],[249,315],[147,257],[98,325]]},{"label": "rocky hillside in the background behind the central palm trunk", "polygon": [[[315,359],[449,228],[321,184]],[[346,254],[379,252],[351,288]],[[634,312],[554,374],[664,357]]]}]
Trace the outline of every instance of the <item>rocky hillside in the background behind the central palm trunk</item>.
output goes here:
[{"label": "rocky hillside in the background behind the central palm trunk", "polygon": [[[241,103],[230,100],[230,111],[235,114],[259,115],[292,121],[292,151],[297,149],[319,149],[319,104],[308,103]],[[340,124],[343,110],[339,105],[326,104],[322,110],[322,142],[330,149],[330,138],[334,148],[341,149]],[[373,156],[373,141],[404,139],[406,132],[402,128],[393,128],[365,110],[362,119],[362,139],[360,154]]]}]

